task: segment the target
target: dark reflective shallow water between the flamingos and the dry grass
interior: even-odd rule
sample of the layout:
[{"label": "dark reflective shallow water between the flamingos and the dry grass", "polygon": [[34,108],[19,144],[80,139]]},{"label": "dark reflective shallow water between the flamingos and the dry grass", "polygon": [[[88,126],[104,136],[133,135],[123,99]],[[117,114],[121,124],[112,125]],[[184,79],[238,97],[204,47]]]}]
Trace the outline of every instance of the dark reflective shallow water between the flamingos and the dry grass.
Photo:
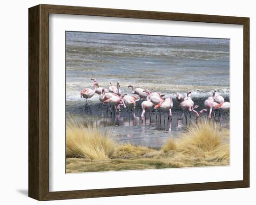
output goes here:
[{"label": "dark reflective shallow water between the flamingos and the dry grass", "polygon": [[[228,101],[228,99],[226,100]],[[147,147],[161,147],[169,137],[179,137],[187,126],[197,122],[195,113],[191,113],[191,118],[186,114],[182,117],[182,111],[178,107],[172,109],[171,120],[168,120],[167,112],[151,109],[146,112],[146,120],[141,122],[141,102],[137,102],[133,112],[121,107],[120,113],[113,111],[111,114],[108,104],[91,103],[87,107],[85,102],[81,101],[67,101],[66,110],[67,115],[79,119],[80,122],[92,123],[103,130],[111,130],[115,140],[119,143],[129,142]],[[194,102],[202,109],[203,99],[194,98]],[[175,100],[174,104],[177,105]],[[200,111],[201,109],[197,110]],[[204,117],[207,118],[206,112],[200,118]],[[216,110],[213,120],[222,127],[229,128],[229,112]]]}]

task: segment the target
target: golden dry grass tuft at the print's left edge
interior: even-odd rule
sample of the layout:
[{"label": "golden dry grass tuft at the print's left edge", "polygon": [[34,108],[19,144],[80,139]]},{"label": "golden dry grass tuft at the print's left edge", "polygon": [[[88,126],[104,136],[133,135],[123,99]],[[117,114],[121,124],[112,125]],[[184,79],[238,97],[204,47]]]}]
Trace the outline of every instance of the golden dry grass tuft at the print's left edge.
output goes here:
[{"label": "golden dry grass tuft at the print's left edge", "polygon": [[106,160],[113,157],[117,151],[117,144],[112,138],[110,130],[79,122],[68,122],[66,127],[66,155],[67,157],[81,157],[90,160]]}]

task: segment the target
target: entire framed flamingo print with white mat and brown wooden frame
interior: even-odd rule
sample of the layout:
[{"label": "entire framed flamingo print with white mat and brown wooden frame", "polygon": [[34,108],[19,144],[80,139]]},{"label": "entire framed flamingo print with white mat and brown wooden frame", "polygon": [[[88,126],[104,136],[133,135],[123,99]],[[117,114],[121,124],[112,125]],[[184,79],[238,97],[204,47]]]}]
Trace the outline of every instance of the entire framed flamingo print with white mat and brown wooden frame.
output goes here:
[{"label": "entire framed flamingo print with white mat and brown wooden frame", "polygon": [[29,8],[29,197],[249,187],[249,18]]}]

